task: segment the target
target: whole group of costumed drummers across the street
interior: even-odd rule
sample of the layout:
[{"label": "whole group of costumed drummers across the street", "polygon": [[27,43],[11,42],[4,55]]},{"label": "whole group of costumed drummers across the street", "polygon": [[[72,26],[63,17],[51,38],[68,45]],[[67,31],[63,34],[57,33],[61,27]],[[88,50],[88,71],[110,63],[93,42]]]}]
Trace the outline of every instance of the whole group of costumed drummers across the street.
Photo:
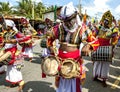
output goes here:
[{"label": "whole group of costumed drummers across the street", "polygon": [[[18,85],[20,92],[24,86],[20,70],[24,66],[24,58],[32,62],[32,39],[38,33],[25,18],[21,18],[22,30],[17,30],[12,20],[2,16],[1,19],[0,72],[6,69],[6,81],[11,86]],[[51,20],[46,19],[46,27],[39,34],[43,48],[42,77],[55,77],[56,92],[82,92],[82,84],[86,79],[82,56],[90,56],[93,80],[102,79],[103,86],[107,87],[113,48],[120,40],[120,28],[114,16],[106,11],[100,22],[88,21],[80,18],[73,3],[68,3],[62,7],[58,20],[53,25]],[[18,50],[17,44],[22,47],[21,50]]]}]

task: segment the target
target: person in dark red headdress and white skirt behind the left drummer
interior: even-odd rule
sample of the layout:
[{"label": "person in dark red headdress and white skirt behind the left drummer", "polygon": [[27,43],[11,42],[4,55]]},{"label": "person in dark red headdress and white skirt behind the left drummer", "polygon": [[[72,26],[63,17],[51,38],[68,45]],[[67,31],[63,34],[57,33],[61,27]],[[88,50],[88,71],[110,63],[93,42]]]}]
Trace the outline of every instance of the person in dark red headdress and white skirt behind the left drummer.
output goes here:
[{"label": "person in dark red headdress and white skirt behind the left drummer", "polygon": [[29,58],[29,61],[31,62],[33,59],[33,36],[35,36],[37,34],[36,30],[31,26],[31,24],[29,23],[29,21],[25,18],[21,18],[21,24],[23,26],[21,32],[25,35],[25,36],[30,36],[30,40],[26,43],[22,44],[22,52],[23,54]]}]

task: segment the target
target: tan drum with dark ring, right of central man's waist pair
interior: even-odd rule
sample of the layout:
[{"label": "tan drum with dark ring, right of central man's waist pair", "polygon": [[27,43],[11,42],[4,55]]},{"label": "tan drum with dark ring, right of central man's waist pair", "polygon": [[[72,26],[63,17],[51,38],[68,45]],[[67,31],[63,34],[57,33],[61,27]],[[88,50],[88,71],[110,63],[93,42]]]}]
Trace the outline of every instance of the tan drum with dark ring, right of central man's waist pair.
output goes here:
[{"label": "tan drum with dark ring, right of central man's waist pair", "polygon": [[62,62],[60,74],[64,78],[74,78],[80,76],[80,64],[74,59],[65,59]]}]

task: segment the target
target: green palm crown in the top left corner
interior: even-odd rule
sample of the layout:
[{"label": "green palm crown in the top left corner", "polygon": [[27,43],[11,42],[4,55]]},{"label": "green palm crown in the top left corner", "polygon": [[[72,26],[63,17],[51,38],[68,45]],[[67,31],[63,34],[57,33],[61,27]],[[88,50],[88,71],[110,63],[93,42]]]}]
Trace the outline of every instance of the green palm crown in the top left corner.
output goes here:
[{"label": "green palm crown in the top left corner", "polygon": [[0,2],[0,13],[3,15],[11,15],[13,13],[12,8],[9,2]]}]

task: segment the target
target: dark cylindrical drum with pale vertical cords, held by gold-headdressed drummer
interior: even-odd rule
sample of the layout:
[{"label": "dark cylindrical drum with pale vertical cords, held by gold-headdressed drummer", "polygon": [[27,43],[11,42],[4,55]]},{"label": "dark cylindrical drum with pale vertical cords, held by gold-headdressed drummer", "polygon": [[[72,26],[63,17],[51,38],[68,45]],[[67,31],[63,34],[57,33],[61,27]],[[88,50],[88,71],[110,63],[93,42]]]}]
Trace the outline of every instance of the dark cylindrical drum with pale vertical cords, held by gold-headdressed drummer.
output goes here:
[{"label": "dark cylindrical drum with pale vertical cords, held by gold-headdressed drummer", "polygon": [[91,53],[92,61],[112,62],[113,48],[112,46],[100,46]]}]

